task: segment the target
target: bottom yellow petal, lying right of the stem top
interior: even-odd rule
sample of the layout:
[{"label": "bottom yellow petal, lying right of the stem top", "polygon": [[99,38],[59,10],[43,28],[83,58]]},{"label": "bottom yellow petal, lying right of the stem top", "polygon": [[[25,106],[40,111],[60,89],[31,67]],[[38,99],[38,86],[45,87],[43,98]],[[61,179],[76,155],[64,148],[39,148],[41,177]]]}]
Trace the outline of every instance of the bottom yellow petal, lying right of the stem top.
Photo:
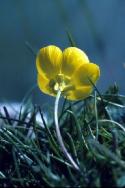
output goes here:
[{"label": "bottom yellow petal, lying right of the stem top", "polygon": [[91,86],[77,87],[75,90],[67,92],[67,99],[81,100],[87,98],[92,92]]}]

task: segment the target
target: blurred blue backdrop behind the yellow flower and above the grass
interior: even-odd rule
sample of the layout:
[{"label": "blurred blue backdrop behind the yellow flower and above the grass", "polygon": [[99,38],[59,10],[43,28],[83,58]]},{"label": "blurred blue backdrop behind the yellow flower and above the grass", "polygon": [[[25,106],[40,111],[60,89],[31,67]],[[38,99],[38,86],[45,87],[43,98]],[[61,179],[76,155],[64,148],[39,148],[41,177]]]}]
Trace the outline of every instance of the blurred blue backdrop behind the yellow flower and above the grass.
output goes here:
[{"label": "blurred blue backdrop behind the yellow flower and above the grass", "polygon": [[100,65],[101,92],[115,82],[125,94],[124,0],[0,0],[0,102],[51,100],[36,85],[35,52],[70,45],[67,32]]}]

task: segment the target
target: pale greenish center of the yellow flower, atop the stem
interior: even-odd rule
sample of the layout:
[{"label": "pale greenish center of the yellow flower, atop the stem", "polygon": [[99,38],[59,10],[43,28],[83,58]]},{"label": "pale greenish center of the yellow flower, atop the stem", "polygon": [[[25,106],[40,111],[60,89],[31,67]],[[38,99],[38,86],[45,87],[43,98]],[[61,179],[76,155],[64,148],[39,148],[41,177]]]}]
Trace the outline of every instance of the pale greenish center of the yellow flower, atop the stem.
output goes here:
[{"label": "pale greenish center of the yellow flower, atop the stem", "polygon": [[54,79],[50,80],[49,87],[53,93],[57,94],[60,90],[62,93],[72,90],[74,86],[70,82],[70,77],[58,74]]}]

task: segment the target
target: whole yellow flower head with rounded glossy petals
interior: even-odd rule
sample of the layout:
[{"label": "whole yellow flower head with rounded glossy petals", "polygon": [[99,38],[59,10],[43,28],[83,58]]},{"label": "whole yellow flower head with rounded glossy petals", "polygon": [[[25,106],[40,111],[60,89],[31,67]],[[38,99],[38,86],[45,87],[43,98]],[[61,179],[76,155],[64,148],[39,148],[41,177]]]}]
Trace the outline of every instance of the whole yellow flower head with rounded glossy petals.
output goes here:
[{"label": "whole yellow flower head with rounded glossy petals", "polygon": [[56,96],[58,90],[69,100],[80,100],[92,92],[100,76],[99,67],[90,63],[87,55],[76,47],[60,48],[50,45],[41,48],[37,58],[38,86],[48,95]]}]

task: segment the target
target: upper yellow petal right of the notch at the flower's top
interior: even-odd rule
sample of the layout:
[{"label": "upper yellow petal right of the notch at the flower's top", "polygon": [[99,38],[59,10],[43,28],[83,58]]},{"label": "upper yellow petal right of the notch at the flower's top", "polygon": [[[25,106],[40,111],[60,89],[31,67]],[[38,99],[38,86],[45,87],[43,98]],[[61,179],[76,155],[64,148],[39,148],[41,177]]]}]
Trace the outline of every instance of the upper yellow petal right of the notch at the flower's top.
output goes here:
[{"label": "upper yellow petal right of the notch at the flower's top", "polygon": [[89,63],[89,59],[82,50],[76,47],[66,48],[63,51],[61,72],[70,77],[73,72],[84,63]]}]

